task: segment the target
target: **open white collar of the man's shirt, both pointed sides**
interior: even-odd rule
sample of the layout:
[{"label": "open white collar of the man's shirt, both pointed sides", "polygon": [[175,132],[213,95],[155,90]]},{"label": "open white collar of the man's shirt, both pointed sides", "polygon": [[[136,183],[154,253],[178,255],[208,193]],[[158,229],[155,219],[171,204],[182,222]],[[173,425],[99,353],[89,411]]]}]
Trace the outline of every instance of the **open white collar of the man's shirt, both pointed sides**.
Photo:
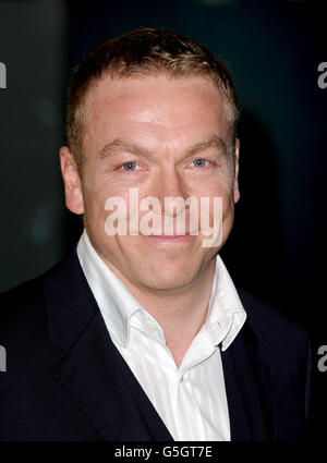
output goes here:
[{"label": "open white collar of the man's shirt, both pointed sides", "polygon": [[[77,244],[77,256],[110,336],[126,346],[133,325],[165,342],[159,324],[105,264],[93,247],[85,229]],[[221,257],[217,255],[208,315],[201,331],[207,331],[210,342],[221,344],[221,350],[225,351],[235,339],[245,319],[246,313],[235,287]],[[153,329],[154,326],[156,329]]]}]

